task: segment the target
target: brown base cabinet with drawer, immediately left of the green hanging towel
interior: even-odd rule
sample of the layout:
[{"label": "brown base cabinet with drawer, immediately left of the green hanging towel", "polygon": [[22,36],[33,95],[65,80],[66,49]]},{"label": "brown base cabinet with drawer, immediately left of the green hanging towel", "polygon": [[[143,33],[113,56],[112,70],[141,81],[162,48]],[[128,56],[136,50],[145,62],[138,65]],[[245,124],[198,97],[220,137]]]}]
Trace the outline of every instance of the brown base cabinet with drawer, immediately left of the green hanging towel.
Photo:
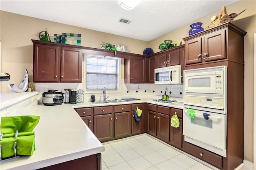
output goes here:
[{"label": "brown base cabinet with drawer, immediately left of the green hanging towel", "polygon": [[161,140],[169,141],[170,128],[170,108],[164,106],[157,106],[157,127],[156,137]]}]

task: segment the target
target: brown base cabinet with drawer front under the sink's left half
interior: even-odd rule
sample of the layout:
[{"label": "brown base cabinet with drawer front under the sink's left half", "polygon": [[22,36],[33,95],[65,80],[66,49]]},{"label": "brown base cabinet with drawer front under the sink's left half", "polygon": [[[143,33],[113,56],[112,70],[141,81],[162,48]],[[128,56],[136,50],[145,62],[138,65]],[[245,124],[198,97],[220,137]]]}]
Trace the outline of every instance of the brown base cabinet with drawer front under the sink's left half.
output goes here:
[{"label": "brown base cabinet with drawer front under the sink's left half", "polygon": [[114,116],[112,106],[94,107],[94,134],[100,142],[114,139]]}]

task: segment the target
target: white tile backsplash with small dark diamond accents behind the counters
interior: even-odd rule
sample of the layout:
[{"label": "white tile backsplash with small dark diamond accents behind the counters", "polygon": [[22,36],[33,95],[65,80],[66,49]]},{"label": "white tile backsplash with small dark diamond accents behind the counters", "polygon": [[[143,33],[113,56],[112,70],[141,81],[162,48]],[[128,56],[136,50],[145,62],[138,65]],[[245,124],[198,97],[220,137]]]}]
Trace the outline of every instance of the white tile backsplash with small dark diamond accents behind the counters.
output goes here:
[{"label": "white tile backsplash with small dark diamond accents behind the counters", "polygon": [[[84,89],[83,83],[36,83],[36,91],[39,91],[39,96],[42,98],[42,93],[48,90],[64,89]],[[169,97],[183,98],[183,84],[182,85],[155,85],[155,84],[125,84],[124,79],[121,79],[120,83],[121,91],[119,93],[106,91],[106,95],[109,99],[118,97],[134,97],[141,95],[155,95],[162,96],[166,91]],[[91,93],[86,93],[85,98],[90,98]],[[96,100],[101,100],[103,94],[94,93]]]}]

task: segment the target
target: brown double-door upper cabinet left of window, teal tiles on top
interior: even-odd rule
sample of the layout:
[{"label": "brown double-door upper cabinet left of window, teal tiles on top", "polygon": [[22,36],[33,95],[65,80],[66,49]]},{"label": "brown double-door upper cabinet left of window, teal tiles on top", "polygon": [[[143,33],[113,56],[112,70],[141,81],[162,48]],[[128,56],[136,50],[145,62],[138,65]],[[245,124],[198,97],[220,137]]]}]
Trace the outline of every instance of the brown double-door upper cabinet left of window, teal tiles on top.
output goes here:
[{"label": "brown double-door upper cabinet left of window, teal tiles on top", "polygon": [[34,43],[34,82],[82,82],[82,49],[59,43]]}]

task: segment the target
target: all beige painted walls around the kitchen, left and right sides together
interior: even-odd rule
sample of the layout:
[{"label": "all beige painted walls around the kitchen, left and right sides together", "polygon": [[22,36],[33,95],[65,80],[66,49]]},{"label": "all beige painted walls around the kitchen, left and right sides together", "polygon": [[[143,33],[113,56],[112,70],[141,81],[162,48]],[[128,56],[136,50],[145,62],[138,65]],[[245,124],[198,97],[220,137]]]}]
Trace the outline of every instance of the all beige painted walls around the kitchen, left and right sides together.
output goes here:
[{"label": "all beige painted walls around the kitchen, left and right sides together", "polygon": [[[256,1],[240,0],[230,6],[227,6],[228,14],[239,13],[246,9],[244,13],[234,19],[236,26],[247,32],[244,37],[244,59],[245,59],[245,109],[244,109],[244,159],[253,162],[253,34],[256,33]],[[203,12],[203,11],[202,11]],[[218,15],[220,11],[214,12],[200,20],[205,28],[210,24],[212,15]],[[0,89],[2,93],[10,92],[7,84],[19,84],[24,76],[24,68],[28,68],[28,73],[32,75],[33,69],[33,46],[31,39],[38,40],[38,33],[48,28],[51,36],[62,34],[62,32],[82,34],[82,46],[100,47],[101,42],[113,44],[128,45],[132,53],[142,54],[146,47],[151,47],[154,52],[158,52],[158,45],[164,40],[174,40],[178,44],[184,41],[182,38],[188,37],[190,24],[187,24],[177,30],[174,30],[164,36],[156,38],[151,42],[144,42],[115,36],[75,26],[69,26],[56,22],[40,20],[36,18],[12,14],[9,12],[0,12],[0,35],[2,42],[2,72],[10,73],[11,80],[1,82]],[[182,22],[182,21],[181,21]],[[194,23],[193,22],[193,23]],[[171,22],[170,22],[171,24]]]}]

